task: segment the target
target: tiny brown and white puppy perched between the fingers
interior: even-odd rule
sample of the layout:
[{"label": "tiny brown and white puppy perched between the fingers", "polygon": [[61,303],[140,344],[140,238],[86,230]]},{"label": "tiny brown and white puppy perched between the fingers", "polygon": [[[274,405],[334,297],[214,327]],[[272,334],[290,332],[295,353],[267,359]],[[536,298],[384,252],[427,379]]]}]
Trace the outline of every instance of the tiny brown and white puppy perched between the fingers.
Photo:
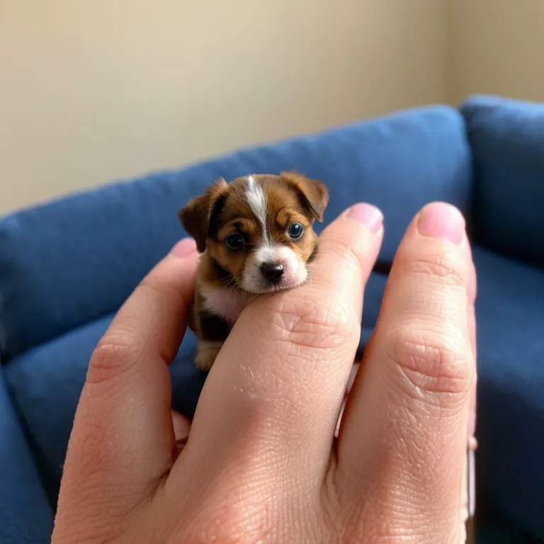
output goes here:
[{"label": "tiny brown and white puppy perched between the fingers", "polygon": [[200,253],[189,327],[196,367],[210,370],[232,325],[261,293],[301,285],[317,253],[314,220],[329,201],[321,181],[295,172],[220,178],[179,212]]}]

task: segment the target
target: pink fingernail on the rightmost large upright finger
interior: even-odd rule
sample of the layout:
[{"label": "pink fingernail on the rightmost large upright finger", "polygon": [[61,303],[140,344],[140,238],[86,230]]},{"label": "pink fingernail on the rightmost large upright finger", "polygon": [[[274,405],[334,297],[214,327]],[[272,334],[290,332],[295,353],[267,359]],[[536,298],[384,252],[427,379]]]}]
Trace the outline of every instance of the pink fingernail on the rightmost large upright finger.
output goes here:
[{"label": "pink fingernail on the rightmost large upright finger", "polygon": [[417,222],[419,234],[442,238],[460,244],[465,236],[465,219],[461,212],[450,204],[435,202],[421,210]]}]

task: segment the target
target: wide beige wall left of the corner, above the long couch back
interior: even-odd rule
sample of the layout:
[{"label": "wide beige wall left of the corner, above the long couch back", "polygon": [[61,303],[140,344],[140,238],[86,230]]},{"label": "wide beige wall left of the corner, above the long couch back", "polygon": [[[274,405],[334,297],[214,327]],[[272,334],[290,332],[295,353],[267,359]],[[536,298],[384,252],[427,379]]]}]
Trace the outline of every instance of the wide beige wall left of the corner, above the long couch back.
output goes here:
[{"label": "wide beige wall left of the corner, above the long couch back", "polygon": [[446,0],[0,0],[0,213],[444,101],[446,30]]}]

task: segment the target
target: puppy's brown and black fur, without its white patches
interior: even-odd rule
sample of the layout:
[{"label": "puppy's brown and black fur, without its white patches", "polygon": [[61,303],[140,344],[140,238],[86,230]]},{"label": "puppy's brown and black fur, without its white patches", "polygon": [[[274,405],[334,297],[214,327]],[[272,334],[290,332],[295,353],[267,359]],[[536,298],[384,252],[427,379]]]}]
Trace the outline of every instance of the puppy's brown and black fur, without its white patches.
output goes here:
[{"label": "puppy's brown and black fur, without its white patches", "polygon": [[[314,220],[323,220],[328,203],[327,188],[320,181],[308,179],[294,172],[280,176],[259,174],[252,176],[266,196],[266,227],[271,242],[290,248],[302,262],[311,261],[317,249],[317,234],[312,229]],[[225,341],[232,322],[212,315],[204,307],[203,289],[215,287],[231,290],[233,296],[251,296],[240,285],[246,259],[254,247],[263,241],[261,223],[246,196],[247,177],[231,183],[219,179],[202,196],[193,198],[179,213],[183,227],[197,244],[201,253],[197,268],[196,295],[191,316],[191,328],[200,342],[217,347],[206,348],[197,354],[196,364],[208,370],[215,360],[220,342]],[[298,240],[291,239],[287,230],[292,222],[299,222],[305,233]],[[242,249],[229,249],[225,239],[232,232],[243,235]]]}]

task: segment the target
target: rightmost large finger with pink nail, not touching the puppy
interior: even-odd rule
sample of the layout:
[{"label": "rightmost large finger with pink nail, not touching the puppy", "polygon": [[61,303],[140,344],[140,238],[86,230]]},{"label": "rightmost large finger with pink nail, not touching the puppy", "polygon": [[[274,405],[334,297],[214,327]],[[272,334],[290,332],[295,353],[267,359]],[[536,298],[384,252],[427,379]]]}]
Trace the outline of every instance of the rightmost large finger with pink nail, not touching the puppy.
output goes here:
[{"label": "rightmost large finger with pink nail, not touching the puppy", "polygon": [[412,222],[339,432],[338,481],[366,494],[370,510],[390,513],[398,534],[422,531],[437,542],[462,530],[475,373],[466,243],[463,217],[449,205],[429,205]]}]

